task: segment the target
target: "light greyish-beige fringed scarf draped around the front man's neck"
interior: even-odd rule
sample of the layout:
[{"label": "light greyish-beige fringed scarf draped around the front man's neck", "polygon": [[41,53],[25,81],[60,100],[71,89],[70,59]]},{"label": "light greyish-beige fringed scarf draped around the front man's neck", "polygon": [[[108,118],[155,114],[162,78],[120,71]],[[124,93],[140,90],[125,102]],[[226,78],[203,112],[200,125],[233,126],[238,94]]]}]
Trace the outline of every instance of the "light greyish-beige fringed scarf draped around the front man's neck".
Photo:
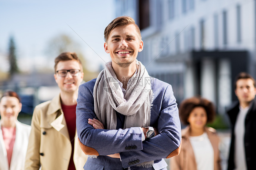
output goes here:
[{"label": "light greyish-beige fringed scarf draped around the front man's neck", "polygon": [[[153,101],[151,80],[140,61],[136,60],[136,66],[138,72],[129,80],[125,96],[111,61],[105,64],[105,69],[97,77],[93,89],[94,111],[105,129],[116,129],[115,111],[125,115],[124,129],[150,125],[150,107]],[[154,161],[148,161],[137,166],[151,167],[153,164]]]}]

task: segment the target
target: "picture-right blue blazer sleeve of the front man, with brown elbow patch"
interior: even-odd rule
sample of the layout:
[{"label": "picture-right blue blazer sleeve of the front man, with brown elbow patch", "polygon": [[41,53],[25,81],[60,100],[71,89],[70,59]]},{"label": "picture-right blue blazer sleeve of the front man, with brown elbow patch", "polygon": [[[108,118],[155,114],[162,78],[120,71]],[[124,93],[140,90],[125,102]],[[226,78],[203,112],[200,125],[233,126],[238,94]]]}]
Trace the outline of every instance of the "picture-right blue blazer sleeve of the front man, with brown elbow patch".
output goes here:
[{"label": "picture-right blue blazer sleeve of the front man, with brown elbow patch", "polygon": [[124,168],[131,166],[129,163],[132,161],[140,160],[140,162],[146,162],[160,160],[179,154],[181,127],[176,99],[173,96],[171,85],[168,85],[163,92],[164,94],[161,98],[156,96],[156,103],[154,103],[157,105],[160,104],[160,111],[154,108],[151,109],[151,117],[154,117],[154,115],[159,117],[157,125],[152,126],[157,126],[158,132],[160,133],[151,139],[143,141],[142,150],[121,152],[120,157]]}]

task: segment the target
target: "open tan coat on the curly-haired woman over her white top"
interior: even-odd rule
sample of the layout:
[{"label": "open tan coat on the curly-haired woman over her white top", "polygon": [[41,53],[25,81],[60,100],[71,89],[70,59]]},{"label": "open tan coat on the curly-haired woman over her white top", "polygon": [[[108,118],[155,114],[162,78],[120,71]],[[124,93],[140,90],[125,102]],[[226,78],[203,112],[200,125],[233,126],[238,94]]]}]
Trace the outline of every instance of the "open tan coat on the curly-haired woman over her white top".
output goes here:
[{"label": "open tan coat on the curly-haired woman over her white top", "polygon": [[[182,144],[181,150],[178,156],[174,156],[170,159],[171,170],[196,170],[196,158],[193,152],[193,148],[189,141],[190,127],[186,127],[181,131]],[[214,170],[221,170],[220,153],[218,149],[219,138],[216,134],[216,130],[210,127],[206,127],[205,131],[213,146],[214,151]]]}]

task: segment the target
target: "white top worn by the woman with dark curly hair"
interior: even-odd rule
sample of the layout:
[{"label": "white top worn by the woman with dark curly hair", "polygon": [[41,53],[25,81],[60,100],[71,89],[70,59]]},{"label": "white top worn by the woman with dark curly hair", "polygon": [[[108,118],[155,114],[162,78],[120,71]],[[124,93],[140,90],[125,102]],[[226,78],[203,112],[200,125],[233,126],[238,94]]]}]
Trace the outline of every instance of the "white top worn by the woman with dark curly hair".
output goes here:
[{"label": "white top worn by the woman with dark curly hair", "polygon": [[190,136],[189,140],[196,158],[196,169],[214,170],[213,146],[206,132],[199,136]]}]

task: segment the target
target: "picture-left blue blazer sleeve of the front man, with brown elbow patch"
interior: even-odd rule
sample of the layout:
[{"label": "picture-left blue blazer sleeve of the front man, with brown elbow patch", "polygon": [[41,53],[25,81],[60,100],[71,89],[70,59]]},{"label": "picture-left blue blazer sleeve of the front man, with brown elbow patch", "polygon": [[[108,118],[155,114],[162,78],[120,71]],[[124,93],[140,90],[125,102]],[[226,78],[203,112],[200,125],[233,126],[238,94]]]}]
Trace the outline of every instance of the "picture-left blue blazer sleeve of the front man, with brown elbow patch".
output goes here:
[{"label": "picture-left blue blazer sleeve of the front man, with brown elbow patch", "polygon": [[[90,82],[87,82],[90,83]],[[85,83],[85,84],[87,84]],[[87,155],[111,155],[119,152],[142,150],[142,136],[139,127],[106,130],[94,129],[88,119],[96,118],[94,113],[93,86],[79,86],[77,98],[77,134],[79,144]]]}]

